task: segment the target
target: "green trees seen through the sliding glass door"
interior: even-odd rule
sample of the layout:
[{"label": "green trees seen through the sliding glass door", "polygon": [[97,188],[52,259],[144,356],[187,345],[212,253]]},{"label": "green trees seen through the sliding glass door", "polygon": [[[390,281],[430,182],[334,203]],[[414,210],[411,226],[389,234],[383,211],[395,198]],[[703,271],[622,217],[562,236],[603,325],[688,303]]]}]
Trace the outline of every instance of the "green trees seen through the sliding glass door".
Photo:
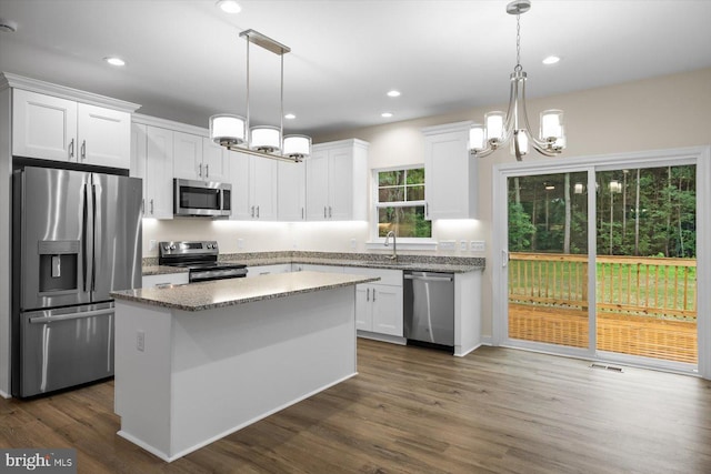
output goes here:
[{"label": "green trees seen through the sliding glass door", "polygon": [[[595,190],[568,195],[565,173],[520,177],[518,192],[509,180],[509,249],[563,252],[568,233],[570,253],[587,253],[587,193],[594,192],[598,254],[695,258],[695,172],[694,165],[602,171]],[[570,173],[571,188],[587,181],[584,172]]]}]

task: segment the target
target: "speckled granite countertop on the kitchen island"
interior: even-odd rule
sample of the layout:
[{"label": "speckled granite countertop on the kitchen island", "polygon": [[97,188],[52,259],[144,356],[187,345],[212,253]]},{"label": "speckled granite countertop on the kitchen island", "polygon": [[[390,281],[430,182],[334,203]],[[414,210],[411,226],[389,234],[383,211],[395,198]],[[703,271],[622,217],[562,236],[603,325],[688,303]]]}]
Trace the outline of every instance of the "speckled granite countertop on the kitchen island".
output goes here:
[{"label": "speckled granite countertop on the kitchen island", "polygon": [[300,293],[331,290],[379,278],[338,273],[298,272],[261,275],[257,279],[229,279],[161,288],[111,292],[117,300],[133,301],[183,311],[206,311]]}]

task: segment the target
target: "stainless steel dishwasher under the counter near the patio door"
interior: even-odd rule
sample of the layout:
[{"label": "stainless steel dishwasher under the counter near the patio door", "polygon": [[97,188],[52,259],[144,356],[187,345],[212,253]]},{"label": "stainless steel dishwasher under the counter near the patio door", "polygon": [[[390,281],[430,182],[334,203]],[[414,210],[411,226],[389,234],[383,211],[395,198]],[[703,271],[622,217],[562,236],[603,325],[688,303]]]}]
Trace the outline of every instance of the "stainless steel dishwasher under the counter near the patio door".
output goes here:
[{"label": "stainless steel dishwasher under the counter near the patio door", "polygon": [[454,275],[404,272],[404,336],[408,344],[454,347]]}]

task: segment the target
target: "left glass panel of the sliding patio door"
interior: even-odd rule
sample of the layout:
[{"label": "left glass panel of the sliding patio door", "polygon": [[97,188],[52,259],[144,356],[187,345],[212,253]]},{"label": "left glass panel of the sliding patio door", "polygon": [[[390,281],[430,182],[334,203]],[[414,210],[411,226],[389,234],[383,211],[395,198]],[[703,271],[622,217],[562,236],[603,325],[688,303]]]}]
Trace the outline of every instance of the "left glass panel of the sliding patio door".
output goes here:
[{"label": "left glass panel of the sliding patio door", "polygon": [[512,340],[589,346],[587,175],[508,179]]}]

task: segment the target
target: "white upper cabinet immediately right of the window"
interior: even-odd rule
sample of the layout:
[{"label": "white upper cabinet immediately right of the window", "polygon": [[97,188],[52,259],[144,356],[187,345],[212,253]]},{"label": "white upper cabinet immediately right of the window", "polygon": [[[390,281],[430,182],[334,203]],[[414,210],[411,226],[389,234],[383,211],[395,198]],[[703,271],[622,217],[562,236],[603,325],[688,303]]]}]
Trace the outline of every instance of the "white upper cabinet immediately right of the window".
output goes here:
[{"label": "white upper cabinet immediately right of the window", "polygon": [[477,218],[477,160],[469,155],[470,122],[422,129],[428,219]]}]

